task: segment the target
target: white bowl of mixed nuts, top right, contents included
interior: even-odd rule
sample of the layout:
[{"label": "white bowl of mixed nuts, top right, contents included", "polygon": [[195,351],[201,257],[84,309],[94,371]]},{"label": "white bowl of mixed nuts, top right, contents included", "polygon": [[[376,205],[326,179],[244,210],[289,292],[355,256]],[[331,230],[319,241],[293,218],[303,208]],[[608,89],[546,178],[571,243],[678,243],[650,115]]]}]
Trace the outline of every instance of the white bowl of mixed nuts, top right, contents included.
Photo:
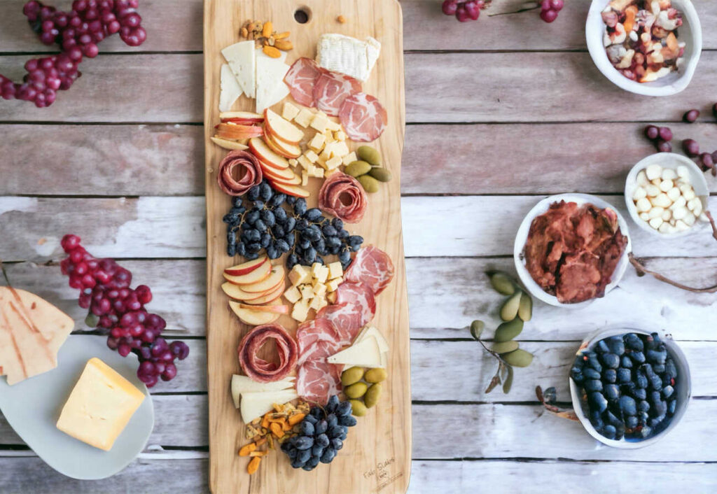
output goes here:
[{"label": "white bowl of mixed nuts, top right, contents included", "polygon": [[690,0],[593,0],[585,37],[600,72],[640,95],[684,90],[702,52],[700,19]]}]

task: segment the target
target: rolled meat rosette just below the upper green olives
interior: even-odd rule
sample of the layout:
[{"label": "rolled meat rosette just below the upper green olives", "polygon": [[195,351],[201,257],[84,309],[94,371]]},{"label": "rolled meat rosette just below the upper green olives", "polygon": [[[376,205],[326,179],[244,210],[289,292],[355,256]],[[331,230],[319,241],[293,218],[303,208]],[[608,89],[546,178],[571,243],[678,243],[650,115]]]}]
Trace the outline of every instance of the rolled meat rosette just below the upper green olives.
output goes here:
[{"label": "rolled meat rosette just below the upper green olives", "polygon": [[346,223],[358,223],[369,202],[366,191],[353,176],[337,171],[326,179],[318,192],[318,207]]}]

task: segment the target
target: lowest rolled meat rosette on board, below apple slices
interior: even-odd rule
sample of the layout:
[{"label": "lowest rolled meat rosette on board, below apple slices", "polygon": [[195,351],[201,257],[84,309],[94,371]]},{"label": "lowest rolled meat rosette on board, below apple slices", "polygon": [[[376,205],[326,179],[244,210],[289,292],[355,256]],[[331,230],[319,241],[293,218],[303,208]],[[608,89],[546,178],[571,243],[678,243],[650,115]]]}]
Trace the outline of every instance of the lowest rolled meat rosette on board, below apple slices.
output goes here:
[{"label": "lowest rolled meat rosette on board, below apple slices", "polygon": [[[267,362],[257,356],[258,351],[268,340],[274,340],[279,355],[279,364]],[[280,381],[293,371],[298,359],[296,342],[279,324],[257,326],[247,333],[239,343],[239,364],[254,381]]]}]

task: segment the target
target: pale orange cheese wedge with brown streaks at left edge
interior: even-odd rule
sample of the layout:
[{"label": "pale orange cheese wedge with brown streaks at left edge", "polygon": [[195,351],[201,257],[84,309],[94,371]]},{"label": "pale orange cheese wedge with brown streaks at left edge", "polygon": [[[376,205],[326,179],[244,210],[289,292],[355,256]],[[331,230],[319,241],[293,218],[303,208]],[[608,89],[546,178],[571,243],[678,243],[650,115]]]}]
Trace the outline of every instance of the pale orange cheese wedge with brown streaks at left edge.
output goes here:
[{"label": "pale orange cheese wedge with brown streaks at left edge", "polygon": [[33,293],[0,287],[0,375],[12,386],[57,366],[75,321]]}]

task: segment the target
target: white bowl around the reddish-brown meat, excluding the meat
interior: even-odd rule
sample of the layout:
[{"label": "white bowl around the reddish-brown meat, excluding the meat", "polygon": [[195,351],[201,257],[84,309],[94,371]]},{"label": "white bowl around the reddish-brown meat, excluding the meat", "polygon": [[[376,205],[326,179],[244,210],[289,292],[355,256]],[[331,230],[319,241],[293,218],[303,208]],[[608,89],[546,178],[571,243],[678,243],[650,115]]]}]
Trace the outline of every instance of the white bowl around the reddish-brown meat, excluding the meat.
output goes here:
[{"label": "white bowl around the reddish-brown meat, excluding the meat", "polygon": [[617,263],[614,272],[612,273],[611,281],[609,282],[607,287],[605,287],[605,295],[607,295],[610,290],[615,288],[622,279],[622,275],[625,275],[625,270],[627,269],[627,265],[629,264],[629,261],[627,260],[627,254],[632,251],[632,242],[630,241],[630,234],[627,230],[627,222],[625,222],[625,218],[622,217],[622,214],[620,214],[619,211],[617,211],[617,209],[612,206],[612,204],[603,201],[599,197],[591,196],[589,194],[558,194],[556,196],[549,196],[546,197],[546,199],[543,199],[542,201],[538,202],[538,204],[536,204],[533,209],[531,209],[530,212],[526,214],[526,217],[523,219],[521,226],[518,228],[518,233],[516,234],[516,243],[513,245],[513,260],[516,263],[518,277],[521,278],[523,286],[526,287],[528,293],[533,295],[533,297],[537,298],[538,300],[542,300],[549,305],[566,308],[581,308],[593,303],[595,299],[585,300],[584,302],[579,303],[559,302],[558,298],[555,295],[550,295],[549,293],[547,293],[545,290],[543,290],[543,288],[541,288],[540,285],[538,285],[538,283],[535,282],[535,280],[533,280],[531,273],[528,272],[528,270],[526,269],[526,261],[523,257],[523,247],[525,247],[526,242],[528,240],[528,232],[531,229],[531,223],[533,222],[533,219],[546,212],[551,204],[559,201],[575,202],[579,205],[594,204],[595,206],[602,209],[610,208],[615,212],[615,214],[617,214],[617,222],[619,224],[620,231],[623,235],[625,235],[625,237],[627,237],[627,246],[625,247],[625,252],[622,253],[622,257],[620,257],[620,260]]}]

